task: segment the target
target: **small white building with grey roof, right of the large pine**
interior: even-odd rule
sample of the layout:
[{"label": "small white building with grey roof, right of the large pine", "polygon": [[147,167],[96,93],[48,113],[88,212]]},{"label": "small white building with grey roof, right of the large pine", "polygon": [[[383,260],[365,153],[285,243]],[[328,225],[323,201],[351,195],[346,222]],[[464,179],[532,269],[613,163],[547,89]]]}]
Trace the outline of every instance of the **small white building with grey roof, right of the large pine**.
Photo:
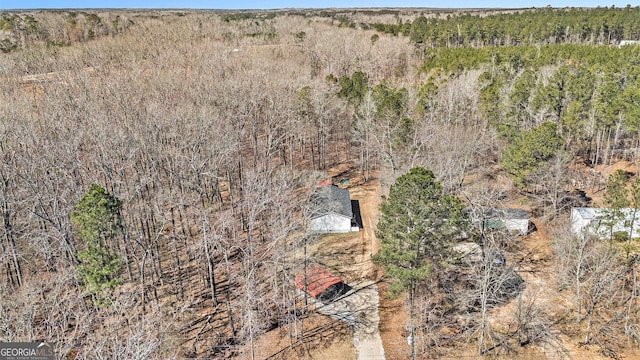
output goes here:
[{"label": "small white building with grey roof, right of the large pine", "polygon": [[527,235],[533,228],[529,213],[523,209],[490,208],[479,212],[470,211],[470,214],[473,225],[483,226],[484,229],[507,229],[519,235]]}]

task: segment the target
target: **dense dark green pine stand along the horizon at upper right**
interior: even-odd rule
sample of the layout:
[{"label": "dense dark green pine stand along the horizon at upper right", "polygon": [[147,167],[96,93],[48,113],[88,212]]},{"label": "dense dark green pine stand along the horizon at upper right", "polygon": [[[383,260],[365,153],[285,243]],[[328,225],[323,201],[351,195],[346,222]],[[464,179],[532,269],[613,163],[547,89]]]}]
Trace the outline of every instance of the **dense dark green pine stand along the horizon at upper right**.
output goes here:
[{"label": "dense dark green pine stand along the horizon at upper right", "polygon": [[372,23],[379,32],[408,36],[418,47],[542,44],[618,44],[640,39],[638,7],[541,8],[488,14],[419,16],[396,24]]}]

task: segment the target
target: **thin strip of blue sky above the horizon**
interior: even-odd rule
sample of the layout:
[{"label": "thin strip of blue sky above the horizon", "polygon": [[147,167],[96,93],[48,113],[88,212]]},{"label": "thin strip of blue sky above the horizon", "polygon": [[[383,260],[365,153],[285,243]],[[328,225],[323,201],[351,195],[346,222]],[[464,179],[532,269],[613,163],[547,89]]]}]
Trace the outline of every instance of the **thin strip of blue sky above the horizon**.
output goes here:
[{"label": "thin strip of blue sky above the horizon", "polygon": [[640,6],[640,1],[616,0],[0,0],[0,9],[180,8],[282,9],[353,7],[527,8]]}]

